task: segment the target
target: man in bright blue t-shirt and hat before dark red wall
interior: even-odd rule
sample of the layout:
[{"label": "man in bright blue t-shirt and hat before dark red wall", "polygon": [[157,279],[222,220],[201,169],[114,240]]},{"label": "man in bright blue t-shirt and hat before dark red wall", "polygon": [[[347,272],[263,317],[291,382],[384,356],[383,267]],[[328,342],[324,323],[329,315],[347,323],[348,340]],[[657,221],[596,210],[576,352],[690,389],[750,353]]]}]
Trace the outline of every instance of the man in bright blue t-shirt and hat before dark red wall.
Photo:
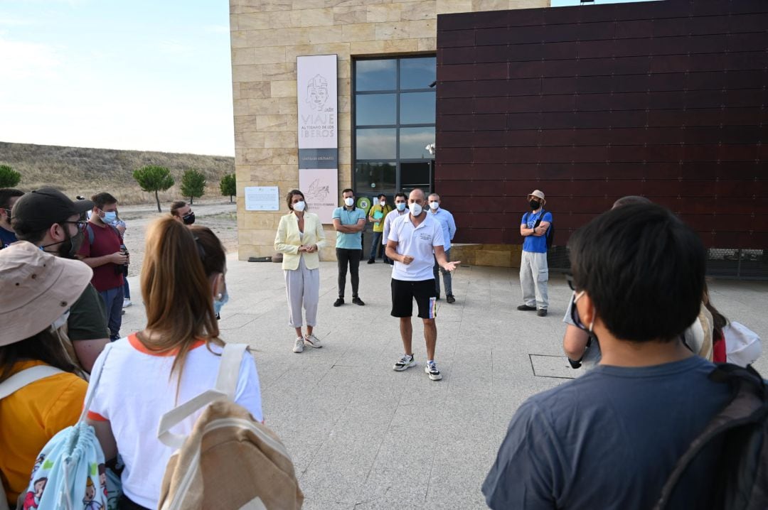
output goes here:
[{"label": "man in bright blue t-shirt and hat before dark red wall", "polygon": [[546,317],[549,307],[547,231],[552,222],[552,213],[544,210],[545,203],[547,201],[544,199],[544,192],[534,189],[528,195],[531,212],[526,212],[520,223],[520,235],[525,238],[520,258],[520,287],[525,303],[518,306],[518,310],[538,308],[539,317]]}]

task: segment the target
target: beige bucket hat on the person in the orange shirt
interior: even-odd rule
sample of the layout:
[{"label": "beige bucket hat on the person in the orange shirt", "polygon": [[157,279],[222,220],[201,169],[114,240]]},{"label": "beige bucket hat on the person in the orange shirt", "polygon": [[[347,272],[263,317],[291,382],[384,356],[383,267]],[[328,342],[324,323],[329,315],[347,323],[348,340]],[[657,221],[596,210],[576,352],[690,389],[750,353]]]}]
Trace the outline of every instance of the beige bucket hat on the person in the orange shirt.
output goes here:
[{"label": "beige bucket hat on the person in the orange shirt", "polygon": [[0,250],[0,347],[53,324],[92,277],[93,270],[83,262],[55,257],[31,242]]}]

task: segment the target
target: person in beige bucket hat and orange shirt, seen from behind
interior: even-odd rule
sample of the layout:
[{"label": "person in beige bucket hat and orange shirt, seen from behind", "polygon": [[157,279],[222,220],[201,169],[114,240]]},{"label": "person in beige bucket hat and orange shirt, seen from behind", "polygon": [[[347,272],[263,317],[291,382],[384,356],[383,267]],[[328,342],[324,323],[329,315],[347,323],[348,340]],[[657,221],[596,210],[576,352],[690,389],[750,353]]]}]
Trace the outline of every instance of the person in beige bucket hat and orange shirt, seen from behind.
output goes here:
[{"label": "person in beige bucket hat and orange shirt, seen from behind", "polygon": [[30,242],[0,251],[0,396],[15,386],[16,374],[48,368],[48,377],[38,373],[0,400],[0,478],[12,508],[38,452],[80,416],[88,384],[75,375],[78,368],[55,330],[92,273],[82,262],[57,258]]}]

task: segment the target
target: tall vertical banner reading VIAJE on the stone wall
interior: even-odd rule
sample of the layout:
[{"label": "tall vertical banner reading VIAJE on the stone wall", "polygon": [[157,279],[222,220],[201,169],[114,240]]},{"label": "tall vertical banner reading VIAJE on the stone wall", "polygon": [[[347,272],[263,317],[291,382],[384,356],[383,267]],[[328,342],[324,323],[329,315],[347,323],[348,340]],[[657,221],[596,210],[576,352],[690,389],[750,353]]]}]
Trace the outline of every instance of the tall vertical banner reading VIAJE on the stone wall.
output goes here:
[{"label": "tall vertical banner reading VIAJE on the stone wall", "polygon": [[299,189],[310,211],[331,223],[339,199],[336,55],[296,58]]}]

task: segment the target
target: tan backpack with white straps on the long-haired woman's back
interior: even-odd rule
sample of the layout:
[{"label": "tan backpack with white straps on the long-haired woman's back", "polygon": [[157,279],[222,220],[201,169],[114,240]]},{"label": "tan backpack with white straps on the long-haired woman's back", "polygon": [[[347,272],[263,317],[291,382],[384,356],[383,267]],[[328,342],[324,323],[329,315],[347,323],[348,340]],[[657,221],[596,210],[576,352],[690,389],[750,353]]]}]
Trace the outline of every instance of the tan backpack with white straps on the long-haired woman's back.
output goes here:
[{"label": "tan backpack with white straps on the long-haired woman's back", "polygon": [[[245,344],[226,344],[214,390],[162,416],[157,438],[178,451],[166,466],[157,508],[301,508],[304,495],[286,447],[233,402],[246,350]],[[170,433],[204,406],[190,436]]]}]

